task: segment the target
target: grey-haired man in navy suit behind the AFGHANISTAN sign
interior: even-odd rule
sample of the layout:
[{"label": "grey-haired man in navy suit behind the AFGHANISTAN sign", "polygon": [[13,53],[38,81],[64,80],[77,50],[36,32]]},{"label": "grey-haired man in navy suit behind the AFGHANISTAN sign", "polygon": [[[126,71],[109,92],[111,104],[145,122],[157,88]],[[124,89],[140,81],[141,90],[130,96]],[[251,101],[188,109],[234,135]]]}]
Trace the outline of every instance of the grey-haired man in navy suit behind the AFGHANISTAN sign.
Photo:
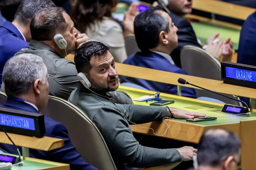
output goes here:
[{"label": "grey-haired man in navy suit behind the AFGHANISTAN sign", "polygon": [[[9,59],[3,70],[3,82],[7,101],[2,108],[40,113],[48,103],[48,73],[43,60],[33,54],[20,54]],[[51,151],[30,149],[30,157],[70,164],[71,170],[97,170],[85,162],[72,145],[66,127],[44,116],[44,136],[64,140],[64,147]],[[9,144],[0,144],[0,148],[16,154],[17,150]]]}]

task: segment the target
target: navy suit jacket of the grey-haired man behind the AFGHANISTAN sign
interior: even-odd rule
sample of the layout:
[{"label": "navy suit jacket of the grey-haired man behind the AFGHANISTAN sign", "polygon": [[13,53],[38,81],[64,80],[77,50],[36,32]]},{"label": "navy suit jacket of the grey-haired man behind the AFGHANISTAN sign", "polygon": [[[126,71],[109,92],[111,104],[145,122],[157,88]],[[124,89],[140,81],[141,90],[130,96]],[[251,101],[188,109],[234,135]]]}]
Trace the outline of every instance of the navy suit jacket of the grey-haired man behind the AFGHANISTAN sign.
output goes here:
[{"label": "navy suit jacket of the grey-haired man behind the AFGHANISTAN sign", "polygon": [[[0,107],[39,113],[33,106],[18,98],[8,98],[4,104],[0,105]],[[67,163],[70,164],[70,170],[97,170],[97,168],[94,168],[92,165],[85,162],[85,160],[77,152],[75,147],[72,145],[67,133],[67,129],[63,124],[56,122],[47,116],[44,116],[44,119],[46,130],[44,136],[63,139],[65,145],[64,147],[51,151],[29,149],[30,157]],[[1,143],[0,147],[9,153],[17,154],[17,150],[12,145]]]}]

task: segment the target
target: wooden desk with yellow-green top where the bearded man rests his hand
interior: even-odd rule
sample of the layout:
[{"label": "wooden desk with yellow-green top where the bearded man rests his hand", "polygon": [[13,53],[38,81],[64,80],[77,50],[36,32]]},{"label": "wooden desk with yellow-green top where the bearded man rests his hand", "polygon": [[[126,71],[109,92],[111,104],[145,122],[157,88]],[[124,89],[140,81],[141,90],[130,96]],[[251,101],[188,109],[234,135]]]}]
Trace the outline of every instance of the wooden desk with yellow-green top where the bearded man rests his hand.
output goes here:
[{"label": "wooden desk with yellow-green top where the bearded man rests his hand", "polygon": [[[132,98],[155,93],[155,91],[136,89],[121,85],[118,90],[127,92]],[[160,97],[164,100],[175,100],[175,103],[169,105],[170,107],[205,113],[207,116],[231,116],[221,112],[223,104],[166,93],[161,93]],[[149,103],[146,102],[136,101],[134,101],[134,104],[149,105]],[[169,125],[169,129],[163,138],[191,143],[198,143],[202,134],[208,129],[222,128],[234,132],[240,138],[242,144],[242,166],[245,170],[256,169],[256,161],[254,160],[256,155],[256,147],[254,147],[256,136],[253,135],[253,132],[256,129],[255,112],[253,112],[250,117],[225,117],[206,122],[192,123],[182,119],[166,119],[165,122]],[[153,128],[158,135],[162,135],[167,128],[166,124],[161,120],[142,124],[141,126]],[[151,130],[138,128],[135,125],[132,125],[132,130],[136,133],[154,136]]]}]

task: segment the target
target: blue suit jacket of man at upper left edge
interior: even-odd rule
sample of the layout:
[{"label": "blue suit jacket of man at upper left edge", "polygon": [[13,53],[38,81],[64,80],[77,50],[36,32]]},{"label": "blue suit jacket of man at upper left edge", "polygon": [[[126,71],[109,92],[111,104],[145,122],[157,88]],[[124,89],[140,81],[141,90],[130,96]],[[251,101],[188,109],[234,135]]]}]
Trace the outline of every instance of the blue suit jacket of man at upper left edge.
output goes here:
[{"label": "blue suit jacket of man at upper left edge", "polygon": [[28,47],[20,31],[9,21],[0,27],[0,86],[6,61],[22,48]]}]

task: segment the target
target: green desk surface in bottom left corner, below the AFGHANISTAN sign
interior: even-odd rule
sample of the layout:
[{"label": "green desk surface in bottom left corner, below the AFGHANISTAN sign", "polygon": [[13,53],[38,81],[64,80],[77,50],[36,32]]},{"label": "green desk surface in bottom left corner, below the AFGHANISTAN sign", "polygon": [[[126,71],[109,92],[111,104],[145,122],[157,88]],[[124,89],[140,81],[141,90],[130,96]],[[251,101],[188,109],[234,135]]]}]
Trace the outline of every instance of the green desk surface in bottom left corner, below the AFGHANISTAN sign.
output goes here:
[{"label": "green desk surface in bottom left corner, below the AFGHANISTAN sign", "polygon": [[23,166],[12,166],[12,170],[38,170],[42,168],[54,167],[55,165],[39,163],[29,160],[22,160],[24,162]]}]

